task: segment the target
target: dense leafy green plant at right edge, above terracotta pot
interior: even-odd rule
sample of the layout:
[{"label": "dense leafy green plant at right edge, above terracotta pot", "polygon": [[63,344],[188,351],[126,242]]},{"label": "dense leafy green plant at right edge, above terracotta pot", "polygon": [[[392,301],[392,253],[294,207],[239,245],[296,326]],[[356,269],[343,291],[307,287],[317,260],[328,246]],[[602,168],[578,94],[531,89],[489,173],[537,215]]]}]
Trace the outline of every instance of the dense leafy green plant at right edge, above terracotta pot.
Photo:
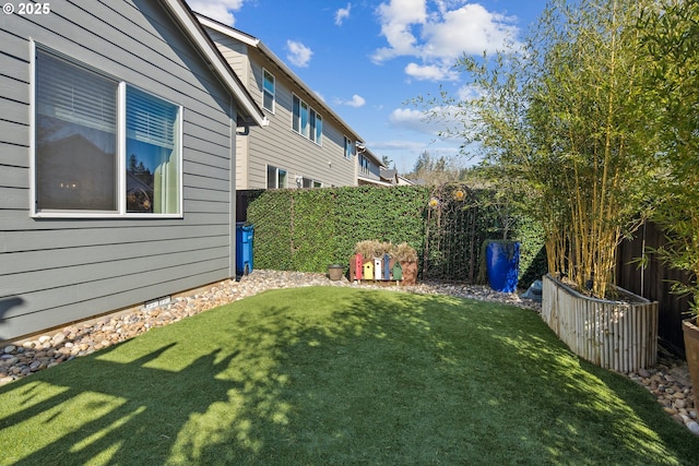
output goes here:
[{"label": "dense leafy green plant at right edge, above terracotta pot", "polygon": [[[662,150],[661,166],[650,198],[659,200],[652,219],[666,231],[667,242],[657,251],[675,268],[688,272],[690,283],[676,283],[673,291],[690,295],[691,318],[683,323],[687,365],[692,385],[699,387],[699,3],[662,0],[640,24],[641,39],[650,56],[645,73],[649,107],[660,116],[652,128]],[[659,98],[660,97],[660,98]],[[694,391],[699,406],[699,390]]]}]

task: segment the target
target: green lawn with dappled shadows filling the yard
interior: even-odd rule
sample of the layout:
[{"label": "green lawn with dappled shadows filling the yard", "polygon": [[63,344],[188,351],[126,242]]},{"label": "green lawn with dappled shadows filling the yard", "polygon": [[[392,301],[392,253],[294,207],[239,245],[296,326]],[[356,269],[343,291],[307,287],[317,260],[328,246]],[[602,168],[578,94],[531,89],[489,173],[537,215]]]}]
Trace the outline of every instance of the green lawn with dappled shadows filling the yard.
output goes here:
[{"label": "green lawn with dappled shadows filling the yard", "polygon": [[698,463],[536,313],[449,297],[268,291],[0,389],[0,464]]}]

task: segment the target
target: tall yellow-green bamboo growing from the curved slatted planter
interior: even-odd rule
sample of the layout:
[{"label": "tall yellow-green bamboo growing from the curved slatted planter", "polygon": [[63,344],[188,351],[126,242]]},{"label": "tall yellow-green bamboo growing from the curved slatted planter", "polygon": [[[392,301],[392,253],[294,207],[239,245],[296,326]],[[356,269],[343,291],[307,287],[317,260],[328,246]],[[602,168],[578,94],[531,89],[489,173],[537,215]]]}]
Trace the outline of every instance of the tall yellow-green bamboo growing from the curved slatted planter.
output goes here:
[{"label": "tall yellow-green bamboo growing from the curved slatted planter", "polygon": [[473,76],[471,98],[439,97],[463,117],[443,134],[477,143],[520,184],[513,192],[545,231],[549,272],[597,297],[612,289],[618,243],[644,219],[654,172],[635,27],[652,3],[554,0],[523,45],[459,61]]}]

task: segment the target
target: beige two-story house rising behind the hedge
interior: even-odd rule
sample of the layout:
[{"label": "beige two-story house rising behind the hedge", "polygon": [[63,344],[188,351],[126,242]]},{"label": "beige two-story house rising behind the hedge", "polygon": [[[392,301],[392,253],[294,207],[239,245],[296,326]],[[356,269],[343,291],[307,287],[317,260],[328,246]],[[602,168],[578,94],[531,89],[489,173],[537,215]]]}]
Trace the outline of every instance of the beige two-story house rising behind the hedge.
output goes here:
[{"label": "beige two-story house rising behind the hedge", "polygon": [[357,186],[359,135],[260,39],[198,17],[270,120],[238,141],[237,188]]}]

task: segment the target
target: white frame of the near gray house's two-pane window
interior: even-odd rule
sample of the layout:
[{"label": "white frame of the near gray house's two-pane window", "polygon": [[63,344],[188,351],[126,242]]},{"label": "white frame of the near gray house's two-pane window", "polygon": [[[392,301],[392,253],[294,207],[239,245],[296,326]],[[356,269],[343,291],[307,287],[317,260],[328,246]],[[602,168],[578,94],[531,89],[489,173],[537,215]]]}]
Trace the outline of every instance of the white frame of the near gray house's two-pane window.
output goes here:
[{"label": "white frame of the near gray house's two-pane window", "polygon": [[[143,89],[139,86],[135,86],[131,83],[127,83],[123,80],[120,80],[114,75],[105,73],[102,70],[95,69],[76,60],[66,53],[61,53],[60,51],[52,49],[50,47],[46,47],[42,44],[37,44],[34,40],[29,40],[29,49],[31,49],[31,60],[29,60],[29,76],[31,76],[31,86],[29,86],[29,195],[31,195],[31,210],[29,216],[34,218],[140,218],[140,219],[152,219],[152,218],[182,218],[183,217],[183,146],[182,146],[182,122],[185,120],[185,108],[176,104],[169,99],[166,99],[159,95],[153,94],[146,89]],[[36,110],[37,110],[37,100],[36,100],[36,84],[37,84],[37,69],[36,69],[36,55],[37,50],[42,50],[45,53],[52,55],[56,58],[64,60],[76,68],[81,68],[97,74],[100,74],[109,80],[114,80],[118,83],[118,95],[117,95],[117,128],[115,129],[117,134],[117,145],[116,145],[116,162],[117,162],[117,175],[116,175],[116,186],[117,186],[117,210],[116,211],[82,211],[82,210],[38,210],[37,208],[37,194],[38,187],[36,182],[36,130],[37,130],[37,121],[36,121]],[[177,107],[178,118],[177,118],[177,129],[176,129],[176,151],[177,151],[177,164],[178,164],[178,174],[177,174],[177,183],[178,183],[178,212],[168,213],[168,214],[157,214],[157,213],[130,213],[127,212],[127,86],[131,86],[137,88],[143,93],[150,94],[155,98],[158,98],[163,101],[171,104]]]}]

